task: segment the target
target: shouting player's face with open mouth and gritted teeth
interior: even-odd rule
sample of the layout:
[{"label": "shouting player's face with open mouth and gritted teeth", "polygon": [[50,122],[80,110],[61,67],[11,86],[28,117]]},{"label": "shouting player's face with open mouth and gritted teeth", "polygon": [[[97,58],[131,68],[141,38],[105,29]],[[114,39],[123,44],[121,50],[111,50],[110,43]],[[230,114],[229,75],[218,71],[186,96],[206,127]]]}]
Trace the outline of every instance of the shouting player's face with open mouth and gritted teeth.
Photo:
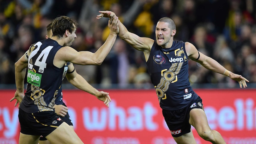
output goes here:
[{"label": "shouting player's face with open mouth and gritted teeth", "polygon": [[162,46],[163,48],[170,48],[172,45],[170,38],[171,29],[169,28],[169,24],[165,22],[158,22],[156,26],[157,45]]}]

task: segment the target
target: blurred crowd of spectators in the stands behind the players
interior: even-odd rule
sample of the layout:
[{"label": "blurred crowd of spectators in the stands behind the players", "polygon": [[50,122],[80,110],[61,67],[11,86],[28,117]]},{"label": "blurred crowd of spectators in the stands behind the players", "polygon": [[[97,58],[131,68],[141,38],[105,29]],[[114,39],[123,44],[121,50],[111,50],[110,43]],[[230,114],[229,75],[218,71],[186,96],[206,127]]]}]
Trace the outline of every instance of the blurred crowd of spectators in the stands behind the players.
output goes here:
[{"label": "blurred crowd of spectators in the stands behind the players", "polygon": [[[45,39],[46,26],[57,16],[79,23],[72,48],[95,52],[109,34],[108,18],[96,19],[99,10],[115,12],[130,32],[152,39],[157,21],[170,17],[176,23],[174,40],[191,42],[256,83],[255,0],[0,0],[0,84],[15,83],[14,63],[32,43]],[[151,88],[143,53],[119,38],[102,65],[75,69],[91,84]],[[189,75],[192,84],[237,85],[194,61],[189,61]]]}]

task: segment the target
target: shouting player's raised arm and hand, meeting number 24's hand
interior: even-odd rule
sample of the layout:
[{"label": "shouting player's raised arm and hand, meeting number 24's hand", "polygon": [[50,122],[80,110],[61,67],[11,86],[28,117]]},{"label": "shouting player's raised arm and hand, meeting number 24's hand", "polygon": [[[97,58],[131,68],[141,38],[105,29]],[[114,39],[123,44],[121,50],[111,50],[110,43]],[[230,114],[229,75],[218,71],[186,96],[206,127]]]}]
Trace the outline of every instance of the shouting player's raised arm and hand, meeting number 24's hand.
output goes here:
[{"label": "shouting player's raised arm and hand, meeting number 24's hand", "polygon": [[[97,19],[102,17],[115,18],[116,14],[111,11],[99,11],[101,14],[97,15]],[[154,40],[147,37],[139,37],[138,35],[131,33],[127,28],[120,22],[119,23],[119,34],[118,36],[131,45],[136,50],[143,51],[146,61],[148,60],[151,47],[154,44]]]}]

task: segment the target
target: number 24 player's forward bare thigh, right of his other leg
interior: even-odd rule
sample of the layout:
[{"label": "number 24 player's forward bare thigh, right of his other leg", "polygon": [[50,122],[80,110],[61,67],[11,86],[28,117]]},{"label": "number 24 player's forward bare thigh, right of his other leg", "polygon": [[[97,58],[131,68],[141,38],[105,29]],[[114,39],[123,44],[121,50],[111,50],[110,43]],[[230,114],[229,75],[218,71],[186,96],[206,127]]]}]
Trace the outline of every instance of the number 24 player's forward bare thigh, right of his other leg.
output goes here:
[{"label": "number 24 player's forward bare thigh, right of his other leg", "polygon": [[62,123],[57,129],[46,136],[51,144],[83,144],[74,130],[67,124]]}]

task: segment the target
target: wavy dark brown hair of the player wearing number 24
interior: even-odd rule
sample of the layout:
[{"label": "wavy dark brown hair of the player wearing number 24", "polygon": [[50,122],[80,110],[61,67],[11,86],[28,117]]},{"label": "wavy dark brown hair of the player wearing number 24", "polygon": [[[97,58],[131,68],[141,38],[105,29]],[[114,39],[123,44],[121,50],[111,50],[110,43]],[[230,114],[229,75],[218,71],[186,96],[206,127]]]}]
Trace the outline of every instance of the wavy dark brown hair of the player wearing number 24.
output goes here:
[{"label": "wavy dark brown hair of the player wearing number 24", "polygon": [[[75,24],[75,27],[73,26]],[[53,36],[57,36],[59,39],[63,37],[66,30],[72,33],[75,29],[77,29],[77,22],[73,21],[71,18],[67,16],[60,16],[53,19],[51,24],[51,29],[53,31]]]}]

